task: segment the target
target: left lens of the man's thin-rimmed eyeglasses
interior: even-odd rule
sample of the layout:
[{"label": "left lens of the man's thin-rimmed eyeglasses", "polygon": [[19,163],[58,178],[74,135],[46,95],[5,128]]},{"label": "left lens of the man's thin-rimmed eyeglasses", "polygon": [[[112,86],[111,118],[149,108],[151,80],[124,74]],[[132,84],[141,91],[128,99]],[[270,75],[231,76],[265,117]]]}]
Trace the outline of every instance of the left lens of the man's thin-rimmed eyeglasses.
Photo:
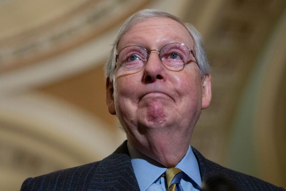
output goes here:
[{"label": "left lens of the man's thin-rimmed eyeglasses", "polygon": [[120,64],[128,70],[141,69],[147,60],[147,51],[140,46],[128,46],[119,52]]}]

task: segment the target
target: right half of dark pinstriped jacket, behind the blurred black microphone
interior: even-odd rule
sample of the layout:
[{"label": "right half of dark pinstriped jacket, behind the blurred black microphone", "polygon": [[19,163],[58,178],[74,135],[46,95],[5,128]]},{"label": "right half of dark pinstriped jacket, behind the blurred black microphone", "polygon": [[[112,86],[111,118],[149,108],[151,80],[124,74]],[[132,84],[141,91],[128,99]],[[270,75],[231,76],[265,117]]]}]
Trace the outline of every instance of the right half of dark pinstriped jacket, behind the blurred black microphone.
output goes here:
[{"label": "right half of dark pinstriped jacket, behind the blurred black microphone", "polygon": [[273,184],[270,184],[266,181],[263,181],[259,178],[255,178],[251,175],[246,175],[241,172],[237,172],[235,170],[228,169],[226,167],[223,167],[215,162],[212,162],[201,155],[198,150],[192,148],[195,156],[198,159],[199,167],[200,167],[200,173],[204,180],[206,180],[209,177],[214,176],[222,176],[227,178],[229,181],[231,181],[234,186],[237,188],[237,190],[273,190],[273,191],[285,191],[285,189],[281,187],[277,187]]}]

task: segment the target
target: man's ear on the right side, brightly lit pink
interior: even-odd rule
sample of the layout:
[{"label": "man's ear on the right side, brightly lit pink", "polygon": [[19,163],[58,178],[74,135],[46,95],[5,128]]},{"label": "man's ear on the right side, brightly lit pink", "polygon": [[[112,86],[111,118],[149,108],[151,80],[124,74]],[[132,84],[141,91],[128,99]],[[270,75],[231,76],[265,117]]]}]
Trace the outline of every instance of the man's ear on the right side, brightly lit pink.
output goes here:
[{"label": "man's ear on the right side, brightly lit pink", "polygon": [[202,109],[209,107],[212,99],[212,77],[210,74],[202,79]]}]

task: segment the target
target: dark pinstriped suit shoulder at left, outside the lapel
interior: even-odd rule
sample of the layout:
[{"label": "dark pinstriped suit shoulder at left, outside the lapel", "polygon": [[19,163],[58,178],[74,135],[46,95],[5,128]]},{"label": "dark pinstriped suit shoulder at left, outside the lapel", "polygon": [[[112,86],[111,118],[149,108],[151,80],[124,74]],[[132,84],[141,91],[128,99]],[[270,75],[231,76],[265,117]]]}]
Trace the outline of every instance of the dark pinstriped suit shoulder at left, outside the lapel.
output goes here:
[{"label": "dark pinstriped suit shoulder at left, outside the lapel", "polygon": [[100,161],[97,161],[78,167],[58,170],[35,178],[27,178],[21,186],[21,191],[87,188],[88,180],[92,177],[99,163]]}]

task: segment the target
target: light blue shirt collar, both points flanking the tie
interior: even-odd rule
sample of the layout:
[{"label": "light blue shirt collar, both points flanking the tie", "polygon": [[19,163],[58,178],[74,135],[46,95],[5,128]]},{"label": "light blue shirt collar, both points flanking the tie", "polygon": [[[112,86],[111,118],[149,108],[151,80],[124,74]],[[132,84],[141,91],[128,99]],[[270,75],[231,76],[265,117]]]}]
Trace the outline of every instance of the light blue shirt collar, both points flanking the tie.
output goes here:
[{"label": "light blue shirt collar, both points flanking the tie", "polygon": [[[167,168],[136,150],[129,142],[127,142],[127,147],[139,188],[147,190]],[[181,169],[200,187],[202,186],[198,161],[190,145],[184,158],[175,167]]]}]

